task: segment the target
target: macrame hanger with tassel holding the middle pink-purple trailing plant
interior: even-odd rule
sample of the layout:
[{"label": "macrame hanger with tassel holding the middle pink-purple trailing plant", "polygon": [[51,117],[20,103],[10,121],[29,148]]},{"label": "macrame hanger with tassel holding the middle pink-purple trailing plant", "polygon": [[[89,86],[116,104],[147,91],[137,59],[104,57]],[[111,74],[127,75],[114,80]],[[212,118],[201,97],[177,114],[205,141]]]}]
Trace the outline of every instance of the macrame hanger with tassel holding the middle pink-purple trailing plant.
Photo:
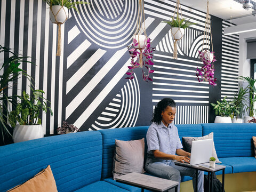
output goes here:
[{"label": "macrame hanger with tassel holding the middle pink-purple trailing plant", "polygon": [[[143,26],[143,22],[144,22],[144,26]],[[138,48],[135,48],[135,49],[138,49],[141,52],[140,58],[139,58],[139,63],[140,63],[140,67],[142,68],[143,67],[142,51],[145,47],[145,43],[143,44],[144,46],[141,47],[140,42],[145,41],[145,39],[140,38],[140,36],[142,37],[141,29],[142,29],[142,33],[144,33],[144,35],[145,35],[145,39],[147,39],[145,13],[144,13],[144,1],[143,0],[139,0],[137,25],[136,25],[135,33],[133,35],[134,38],[136,35],[138,35]]]}]

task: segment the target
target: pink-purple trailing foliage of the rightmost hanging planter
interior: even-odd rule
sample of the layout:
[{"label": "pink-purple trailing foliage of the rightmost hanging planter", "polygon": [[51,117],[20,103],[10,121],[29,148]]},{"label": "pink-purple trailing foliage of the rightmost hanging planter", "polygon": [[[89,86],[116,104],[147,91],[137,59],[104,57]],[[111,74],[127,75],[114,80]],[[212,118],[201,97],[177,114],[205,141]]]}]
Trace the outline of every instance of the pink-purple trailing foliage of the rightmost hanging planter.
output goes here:
[{"label": "pink-purple trailing foliage of the rightmost hanging planter", "polygon": [[[214,78],[214,66],[213,62],[216,61],[215,56],[213,55],[213,59],[211,61],[210,57],[205,57],[206,51],[199,51],[199,58],[203,62],[203,67],[201,69],[196,69],[196,76],[198,79],[198,82],[207,81],[210,85],[216,86],[215,83],[217,81],[217,78]],[[214,52],[211,52],[213,54]]]}]

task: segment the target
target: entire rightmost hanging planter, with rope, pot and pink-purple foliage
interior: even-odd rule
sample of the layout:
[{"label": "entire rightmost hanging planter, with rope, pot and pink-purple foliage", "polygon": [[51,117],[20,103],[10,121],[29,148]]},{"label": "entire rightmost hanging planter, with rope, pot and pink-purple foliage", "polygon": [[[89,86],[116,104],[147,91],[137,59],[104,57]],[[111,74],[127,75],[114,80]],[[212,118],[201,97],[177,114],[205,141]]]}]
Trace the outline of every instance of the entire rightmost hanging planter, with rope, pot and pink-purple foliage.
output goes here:
[{"label": "entire rightmost hanging planter, with rope, pot and pink-purple foliage", "polygon": [[[207,0],[207,13],[206,13],[202,47],[203,47],[202,51],[198,51],[199,59],[203,62],[202,68],[196,69],[196,76],[197,76],[198,82],[206,81],[206,82],[209,82],[210,85],[216,86],[217,84],[215,82],[217,81],[217,78],[214,78],[215,69],[213,65],[216,59],[214,56],[213,44],[212,44],[212,33],[211,33],[210,14],[209,14],[209,0]],[[212,47],[212,51],[210,51],[211,47]]]}]

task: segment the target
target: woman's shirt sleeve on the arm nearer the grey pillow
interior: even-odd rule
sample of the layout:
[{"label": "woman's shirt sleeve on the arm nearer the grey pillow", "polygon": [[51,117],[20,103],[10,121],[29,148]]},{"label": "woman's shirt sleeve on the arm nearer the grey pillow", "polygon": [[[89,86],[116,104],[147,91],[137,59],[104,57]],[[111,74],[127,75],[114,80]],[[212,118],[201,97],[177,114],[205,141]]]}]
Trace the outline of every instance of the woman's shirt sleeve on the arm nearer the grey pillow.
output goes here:
[{"label": "woman's shirt sleeve on the arm nearer the grey pillow", "polygon": [[147,144],[148,144],[148,153],[152,153],[151,150],[160,149],[157,131],[152,126],[149,127],[147,132]]}]

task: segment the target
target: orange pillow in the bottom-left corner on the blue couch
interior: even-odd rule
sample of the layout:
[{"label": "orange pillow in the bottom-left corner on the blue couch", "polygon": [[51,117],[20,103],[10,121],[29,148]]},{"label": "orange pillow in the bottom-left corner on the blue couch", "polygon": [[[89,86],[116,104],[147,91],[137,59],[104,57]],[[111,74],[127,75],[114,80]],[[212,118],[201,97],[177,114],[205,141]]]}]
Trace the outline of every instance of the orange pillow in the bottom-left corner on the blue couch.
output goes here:
[{"label": "orange pillow in the bottom-left corner on the blue couch", "polygon": [[57,186],[52,174],[51,166],[48,165],[46,169],[37,173],[33,178],[25,183],[18,185],[6,192],[57,192]]}]

